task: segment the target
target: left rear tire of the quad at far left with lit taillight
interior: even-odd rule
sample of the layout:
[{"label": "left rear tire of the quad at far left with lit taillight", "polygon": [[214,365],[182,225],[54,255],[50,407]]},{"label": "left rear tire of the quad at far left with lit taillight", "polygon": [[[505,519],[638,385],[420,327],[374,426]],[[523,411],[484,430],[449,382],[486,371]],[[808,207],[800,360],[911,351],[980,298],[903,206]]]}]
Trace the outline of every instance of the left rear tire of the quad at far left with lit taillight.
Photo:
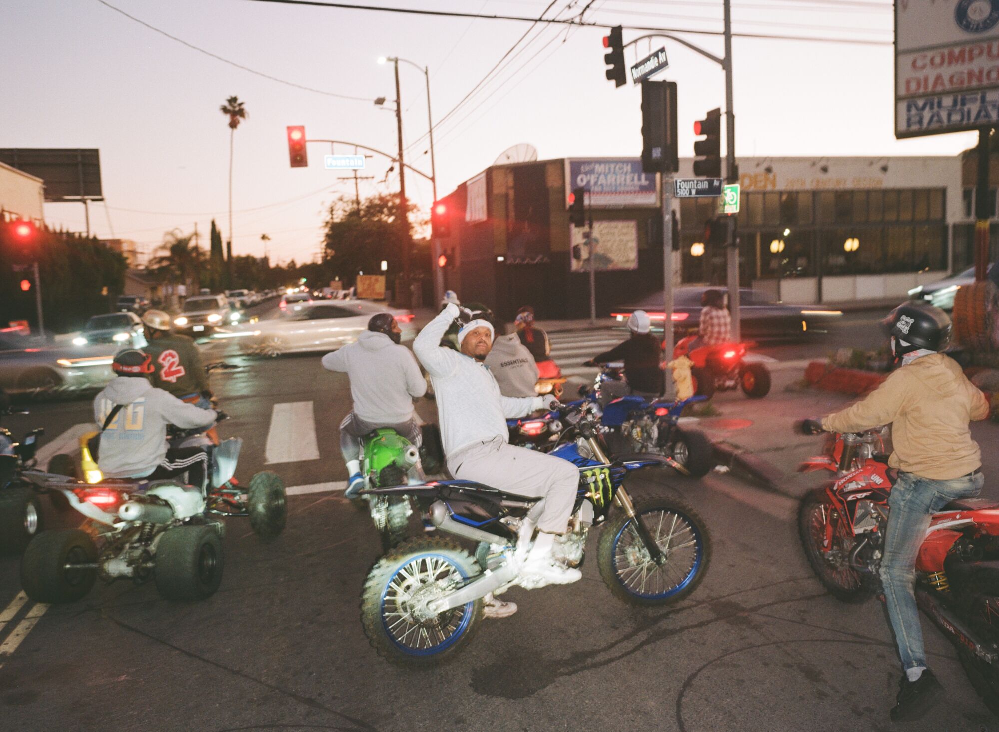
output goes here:
[{"label": "left rear tire of the quad at far left with lit taillight", "polygon": [[96,569],[66,568],[67,564],[97,561],[97,546],[80,529],[39,534],[21,557],[21,586],[35,602],[74,602],[97,580]]}]

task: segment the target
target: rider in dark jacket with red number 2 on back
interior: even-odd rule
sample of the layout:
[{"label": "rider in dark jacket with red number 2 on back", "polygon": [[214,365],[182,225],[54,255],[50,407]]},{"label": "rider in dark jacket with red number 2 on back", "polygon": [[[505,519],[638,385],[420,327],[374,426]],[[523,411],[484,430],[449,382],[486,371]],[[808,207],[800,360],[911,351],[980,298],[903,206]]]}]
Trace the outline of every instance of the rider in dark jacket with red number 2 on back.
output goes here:
[{"label": "rider in dark jacket with red number 2 on back", "polygon": [[153,386],[202,409],[209,408],[212,389],[194,339],[173,333],[170,316],[162,310],[147,310],[142,324],[148,343],[143,350],[153,358]]}]

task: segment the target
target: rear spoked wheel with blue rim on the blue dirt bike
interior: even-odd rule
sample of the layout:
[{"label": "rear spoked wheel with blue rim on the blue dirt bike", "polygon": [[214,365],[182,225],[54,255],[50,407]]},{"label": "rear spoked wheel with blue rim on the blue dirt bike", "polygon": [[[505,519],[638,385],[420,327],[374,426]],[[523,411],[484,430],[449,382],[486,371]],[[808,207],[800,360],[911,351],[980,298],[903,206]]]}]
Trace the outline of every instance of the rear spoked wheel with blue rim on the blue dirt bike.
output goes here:
[{"label": "rear spoked wheel with blue rim on the blue dirt bike", "polygon": [[435,613],[428,607],[480,573],[455,542],[412,539],[382,557],[365,580],[361,623],[383,658],[405,666],[433,666],[459,651],[479,626],[483,601]]}]

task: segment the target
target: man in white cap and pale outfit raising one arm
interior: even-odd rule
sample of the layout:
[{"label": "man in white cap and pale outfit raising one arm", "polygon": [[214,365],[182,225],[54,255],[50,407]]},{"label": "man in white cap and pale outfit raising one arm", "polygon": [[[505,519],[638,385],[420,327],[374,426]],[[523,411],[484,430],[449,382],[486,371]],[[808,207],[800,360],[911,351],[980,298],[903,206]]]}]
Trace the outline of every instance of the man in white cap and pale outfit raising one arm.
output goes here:
[{"label": "man in white cap and pale outfit raising one arm", "polygon": [[[441,336],[460,315],[460,352],[442,348]],[[520,576],[529,578],[531,587],[575,582],[581,573],[556,561],[552,547],[555,536],[567,528],[579,471],[567,460],[507,442],[506,419],[550,408],[556,400],[550,395],[517,398],[500,394],[496,379],[483,363],[493,347],[493,325],[478,315],[449,304],[413,343],[437,394],[448,467],[456,478],[540,498],[537,538]]]}]

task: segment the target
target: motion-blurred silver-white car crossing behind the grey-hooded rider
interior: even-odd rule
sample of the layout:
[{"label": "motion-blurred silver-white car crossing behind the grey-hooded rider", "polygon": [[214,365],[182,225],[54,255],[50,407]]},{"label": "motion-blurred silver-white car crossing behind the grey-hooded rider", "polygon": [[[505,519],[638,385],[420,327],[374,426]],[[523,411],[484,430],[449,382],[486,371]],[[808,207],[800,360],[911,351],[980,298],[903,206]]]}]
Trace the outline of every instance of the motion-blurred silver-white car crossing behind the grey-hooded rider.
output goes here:
[{"label": "motion-blurred silver-white car crossing behind the grey-hooded rider", "polygon": [[261,356],[333,351],[356,341],[376,313],[392,313],[403,331],[404,341],[416,336],[414,316],[409,310],[386,308],[364,300],[349,303],[293,301],[293,304],[301,309],[275,320],[219,328],[213,338],[237,339],[245,353]]}]

